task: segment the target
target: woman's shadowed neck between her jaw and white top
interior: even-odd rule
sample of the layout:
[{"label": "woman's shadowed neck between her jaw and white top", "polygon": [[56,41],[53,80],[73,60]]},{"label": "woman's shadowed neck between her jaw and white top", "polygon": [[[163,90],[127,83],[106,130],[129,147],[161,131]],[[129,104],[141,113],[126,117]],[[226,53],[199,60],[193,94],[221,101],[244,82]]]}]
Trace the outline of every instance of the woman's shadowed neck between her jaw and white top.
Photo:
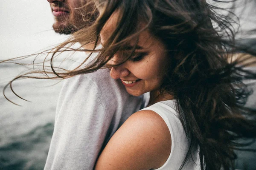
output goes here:
[{"label": "woman's shadowed neck between her jaw and white top", "polygon": [[160,90],[151,91],[148,106],[154,105],[157,102],[172,100],[174,97],[171,94],[160,93]]}]

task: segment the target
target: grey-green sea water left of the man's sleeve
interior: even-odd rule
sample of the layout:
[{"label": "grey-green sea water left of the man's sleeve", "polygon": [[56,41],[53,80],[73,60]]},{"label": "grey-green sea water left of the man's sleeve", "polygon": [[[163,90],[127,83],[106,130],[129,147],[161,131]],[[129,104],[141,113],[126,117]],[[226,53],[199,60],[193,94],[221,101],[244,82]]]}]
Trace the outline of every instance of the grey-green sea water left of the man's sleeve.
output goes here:
[{"label": "grey-green sea water left of the man's sleeve", "polygon": [[[56,80],[17,80],[14,91],[31,102],[15,96],[4,85],[24,68],[0,65],[0,170],[42,170],[51,140],[55,108],[61,83]],[[53,85],[58,83],[56,85]],[[53,85],[53,86],[52,86]]]}]

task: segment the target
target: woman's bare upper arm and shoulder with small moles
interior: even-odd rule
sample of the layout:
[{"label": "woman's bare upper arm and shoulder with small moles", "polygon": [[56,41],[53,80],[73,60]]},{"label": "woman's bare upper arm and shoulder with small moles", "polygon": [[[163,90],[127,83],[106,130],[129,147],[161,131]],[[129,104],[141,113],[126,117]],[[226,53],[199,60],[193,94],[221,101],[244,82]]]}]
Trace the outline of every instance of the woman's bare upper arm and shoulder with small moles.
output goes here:
[{"label": "woman's bare upper arm and shoulder with small moles", "polygon": [[171,152],[171,135],[154,111],[134,113],[102,151],[96,170],[149,170],[161,167]]}]

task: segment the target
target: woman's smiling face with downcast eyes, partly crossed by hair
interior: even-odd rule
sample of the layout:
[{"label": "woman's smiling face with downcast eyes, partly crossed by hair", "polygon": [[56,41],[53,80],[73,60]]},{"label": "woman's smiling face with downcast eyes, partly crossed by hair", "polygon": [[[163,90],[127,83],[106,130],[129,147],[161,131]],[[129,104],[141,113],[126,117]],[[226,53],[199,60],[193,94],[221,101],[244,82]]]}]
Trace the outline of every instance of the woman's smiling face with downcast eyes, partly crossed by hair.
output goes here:
[{"label": "woman's smiling face with downcast eyes, partly crossed by hair", "polygon": [[[104,26],[101,33],[101,42],[104,46],[109,33],[113,31],[114,16]],[[135,41],[134,41],[135,42]],[[131,49],[133,42],[125,49]],[[109,61],[109,64],[117,64],[122,55],[129,55],[131,51],[119,51]],[[121,79],[127,92],[133,96],[140,96],[148,91],[157,91],[163,82],[168,65],[166,48],[149,31],[140,34],[139,42],[133,57],[122,65],[111,68],[110,76],[113,79]]]}]

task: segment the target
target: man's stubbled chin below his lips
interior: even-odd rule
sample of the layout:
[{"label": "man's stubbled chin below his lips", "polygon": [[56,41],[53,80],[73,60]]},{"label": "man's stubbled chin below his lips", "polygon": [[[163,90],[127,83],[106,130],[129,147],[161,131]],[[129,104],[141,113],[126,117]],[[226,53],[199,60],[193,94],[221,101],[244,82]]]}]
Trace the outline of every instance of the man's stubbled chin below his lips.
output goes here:
[{"label": "man's stubbled chin below his lips", "polygon": [[54,31],[58,34],[73,34],[74,32],[76,32],[77,30],[74,28],[73,25],[68,24],[68,23],[59,23],[56,22],[52,25],[52,28],[54,29]]}]

